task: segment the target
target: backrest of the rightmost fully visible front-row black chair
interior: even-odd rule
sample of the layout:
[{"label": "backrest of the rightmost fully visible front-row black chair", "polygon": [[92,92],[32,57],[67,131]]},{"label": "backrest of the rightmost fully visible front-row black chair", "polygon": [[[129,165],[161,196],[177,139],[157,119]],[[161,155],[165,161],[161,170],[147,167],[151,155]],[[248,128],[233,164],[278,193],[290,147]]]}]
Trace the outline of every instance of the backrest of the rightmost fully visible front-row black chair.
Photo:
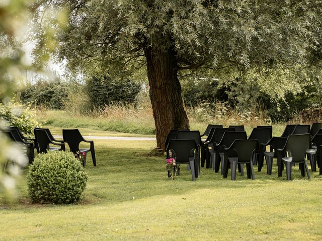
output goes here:
[{"label": "backrest of the rightmost fully visible front-row black chair", "polygon": [[289,135],[286,142],[286,150],[292,154],[292,162],[302,162],[309,148],[311,136],[307,134]]}]

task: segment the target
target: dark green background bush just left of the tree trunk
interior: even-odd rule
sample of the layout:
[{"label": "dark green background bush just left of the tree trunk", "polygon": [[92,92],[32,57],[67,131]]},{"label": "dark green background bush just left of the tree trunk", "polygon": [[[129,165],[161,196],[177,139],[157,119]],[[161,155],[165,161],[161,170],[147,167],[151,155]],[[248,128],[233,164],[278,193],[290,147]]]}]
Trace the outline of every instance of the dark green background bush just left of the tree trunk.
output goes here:
[{"label": "dark green background bush just left of the tree trunk", "polygon": [[112,103],[129,104],[136,100],[141,85],[131,80],[119,80],[108,76],[93,77],[86,83],[90,103],[102,107]]}]

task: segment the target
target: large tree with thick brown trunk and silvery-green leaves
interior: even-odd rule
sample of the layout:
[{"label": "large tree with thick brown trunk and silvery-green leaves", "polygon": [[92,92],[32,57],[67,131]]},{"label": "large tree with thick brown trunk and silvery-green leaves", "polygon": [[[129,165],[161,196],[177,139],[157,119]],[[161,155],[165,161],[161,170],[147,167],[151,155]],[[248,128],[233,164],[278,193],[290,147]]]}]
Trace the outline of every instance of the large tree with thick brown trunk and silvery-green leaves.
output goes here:
[{"label": "large tree with thick brown trunk and silvery-green leaves", "polygon": [[320,53],[321,1],[43,2],[68,10],[57,53],[71,69],[110,72],[146,63],[157,146],[163,149],[170,129],[189,128],[178,71],[292,68]]}]

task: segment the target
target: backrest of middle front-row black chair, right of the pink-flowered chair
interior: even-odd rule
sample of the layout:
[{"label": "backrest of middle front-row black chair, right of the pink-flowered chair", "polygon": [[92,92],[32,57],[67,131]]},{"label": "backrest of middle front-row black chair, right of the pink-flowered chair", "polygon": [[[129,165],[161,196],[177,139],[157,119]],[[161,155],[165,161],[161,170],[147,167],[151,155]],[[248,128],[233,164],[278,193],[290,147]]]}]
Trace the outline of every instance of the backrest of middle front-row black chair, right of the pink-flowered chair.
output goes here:
[{"label": "backrest of middle front-row black chair, right of the pink-flowered chair", "polygon": [[[236,139],[232,143],[231,148],[235,150],[238,157],[238,162],[250,162],[253,151],[258,149],[258,141]],[[233,156],[235,156],[235,153]],[[228,152],[228,157],[229,157],[229,152]]]}]

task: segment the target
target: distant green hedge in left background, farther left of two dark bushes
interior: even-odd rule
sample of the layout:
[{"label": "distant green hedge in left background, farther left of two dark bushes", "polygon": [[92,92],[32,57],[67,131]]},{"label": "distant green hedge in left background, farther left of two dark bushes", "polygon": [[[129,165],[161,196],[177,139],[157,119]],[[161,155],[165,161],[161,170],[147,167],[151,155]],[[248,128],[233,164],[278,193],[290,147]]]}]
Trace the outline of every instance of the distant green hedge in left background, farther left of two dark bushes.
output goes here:
[{"label": "distant green hedge in left background, farther left of two dark bushes", "polygon": [[28,84],[21,93],[21,100],[35,106],[63,109],[68,97],[68,85],[60,81],[37,81]]}]

